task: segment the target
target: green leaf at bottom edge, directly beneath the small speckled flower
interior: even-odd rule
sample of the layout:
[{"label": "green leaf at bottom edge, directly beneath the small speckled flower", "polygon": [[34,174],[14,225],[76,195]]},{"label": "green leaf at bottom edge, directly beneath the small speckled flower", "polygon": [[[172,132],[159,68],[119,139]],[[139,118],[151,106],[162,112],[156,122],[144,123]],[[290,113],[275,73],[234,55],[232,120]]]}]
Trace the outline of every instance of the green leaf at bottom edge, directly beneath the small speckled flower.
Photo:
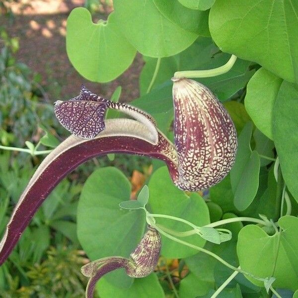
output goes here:
[{"label": "green leaf at bottom edge, directly beneath the small speckled flower", "polygon": [[100,298],[164,298],[163,290],[154,273],[135,279],[129,289],[117,288],[102,278],[97,283],[96,289]]}]

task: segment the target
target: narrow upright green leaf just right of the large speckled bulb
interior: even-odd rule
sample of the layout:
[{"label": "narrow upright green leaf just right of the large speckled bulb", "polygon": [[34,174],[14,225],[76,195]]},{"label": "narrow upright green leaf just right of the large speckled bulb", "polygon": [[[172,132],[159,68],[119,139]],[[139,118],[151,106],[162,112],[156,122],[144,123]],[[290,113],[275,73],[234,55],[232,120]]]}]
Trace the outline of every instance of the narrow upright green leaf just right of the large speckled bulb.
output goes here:
[{"label": "narrow upright green leaf just right of the large speckled bulb", "polygon": [[235,163],[230,171],[235,207],[243,211],[255,198],[259,187],[260,157],[251,151],[252,124],[248,122],[238,138]]}]

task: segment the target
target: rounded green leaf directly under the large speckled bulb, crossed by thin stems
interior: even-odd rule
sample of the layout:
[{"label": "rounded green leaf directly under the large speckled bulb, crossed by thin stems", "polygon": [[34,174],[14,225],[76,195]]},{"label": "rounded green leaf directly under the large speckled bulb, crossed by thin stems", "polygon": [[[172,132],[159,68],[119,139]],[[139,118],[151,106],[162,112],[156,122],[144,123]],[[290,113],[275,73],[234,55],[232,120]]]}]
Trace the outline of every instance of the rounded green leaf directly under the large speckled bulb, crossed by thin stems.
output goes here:
[{"label": "rounded green leaf directly under the large speckled bulb, crossed by thin stems", "polygon": [[[192,193],[188,197],[172,182],[167,167],[157,169],[149,181],[149,194],[152,212],[185,219],[198,226],[210,223],[208,207],[198,194]],[[156,222],[170,229],[185,231],[190,229],[188,225],[180,222],[156,218]],[[187,242],[197,246],[204,246],[206,240],[199,235],[187,237]],[[197,250],[176,243],[162,236],[161,254],[167,258],[183,258],[197,253]]]}]

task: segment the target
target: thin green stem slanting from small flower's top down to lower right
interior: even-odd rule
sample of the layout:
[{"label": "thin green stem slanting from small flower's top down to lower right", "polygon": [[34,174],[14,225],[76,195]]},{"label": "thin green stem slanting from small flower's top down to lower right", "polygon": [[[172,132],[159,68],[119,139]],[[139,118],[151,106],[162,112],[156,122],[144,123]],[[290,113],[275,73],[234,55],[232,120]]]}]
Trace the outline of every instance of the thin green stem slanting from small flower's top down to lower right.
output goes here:
[{"label": "thin green stem slanting from small flower's top down to lower right", "polygon": [[191,248],[193,248],[193,249],[196,249],[196,250],[199,250],[199,251],[202,251],[202,252],[206,253],[206,254],[208,254],[208,255],[214,257],[214,258],[217,259],[219,262],[221,262],[222,264],[224,264],[226,267],[232,269],[233,271],[238,271],[238,272],[240,272],[240,273],[242,273],[242,274],[245,274],[245,275],[247,275],[247,276],[250,276],[250,277],[252,277],[252,278],[254,278],[254,279],[256,279],[256,280],[262,281],[262,282],[265,281],[264,278],[256,277],[256,276],[254,276],[253,274],[251,274],[251,273],[249,273],[249,272],[243,271],[243,270],[241,270],[241,269],[238,269],[238,268],[236,268],[236,267],[230,265],[228,262],[224,261],[224,259],[222,259],[221,257],[219,257],[217,254],[213,253],[212,251],[209,251],[209,250],[207,250],[207,249],[205,249],[205,248],[202,248],[202,247],[199,247],[199,246],[197,246],[197,245],[193,245],[193,244],[191,244],[191,243],[188,243],[188,242],[186,242],[186,241],[183,241],[183,240],[181,240],[181,239],[178,239],[178,238],[176,238],[176,237],[174,237],[174,236],[172,236],[172,235],[166,233],[165,231],[163,231],[162,229],[160,229],[160,228],[159,228],[158,226],[156,226],[155,224],[152,224],[152,222],[150,222],[150,221],[148,222],[148,224],[153,225],[154,228],[155,228],[160,234],[164,235],[165,237],[167,237],[167,238],[169,238],[169,239],[171,239],[171,240],[173,240],[173,241],[175,241],[175,242],[177,242],[177,243],[180,243],[180,244],[189,246],[189,247],[191,247]]}]

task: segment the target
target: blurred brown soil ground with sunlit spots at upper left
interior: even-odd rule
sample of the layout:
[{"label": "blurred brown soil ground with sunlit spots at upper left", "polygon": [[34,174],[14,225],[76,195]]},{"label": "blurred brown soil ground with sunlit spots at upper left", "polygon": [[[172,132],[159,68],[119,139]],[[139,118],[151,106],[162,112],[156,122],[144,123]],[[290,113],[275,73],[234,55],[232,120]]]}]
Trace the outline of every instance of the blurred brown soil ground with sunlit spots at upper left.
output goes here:
[{"label": "blurred brown soil ground with sunlit spots at upper left", "polygon": [[[1,0],[0,0],[1,1]],[[122,86],[121,101],[131,101],[139,96],[138,77],[143,67],[137,55],[131,67],[110,83],[91,83],[80,76],[66,54],[66,21],[70,11],[83,6],[84,0],[14,0],[4,1],[13,11],[13,21],[0,15],[10,37],[19,38],[16,59],[41,75],[41,85],[50,101],[67,100],[85,84],[91,91],[110,98],[118,85]],[[110,1],[111,2],[111,1]],[[102,0],[100,17],[106,18],[112,4]]]}]

